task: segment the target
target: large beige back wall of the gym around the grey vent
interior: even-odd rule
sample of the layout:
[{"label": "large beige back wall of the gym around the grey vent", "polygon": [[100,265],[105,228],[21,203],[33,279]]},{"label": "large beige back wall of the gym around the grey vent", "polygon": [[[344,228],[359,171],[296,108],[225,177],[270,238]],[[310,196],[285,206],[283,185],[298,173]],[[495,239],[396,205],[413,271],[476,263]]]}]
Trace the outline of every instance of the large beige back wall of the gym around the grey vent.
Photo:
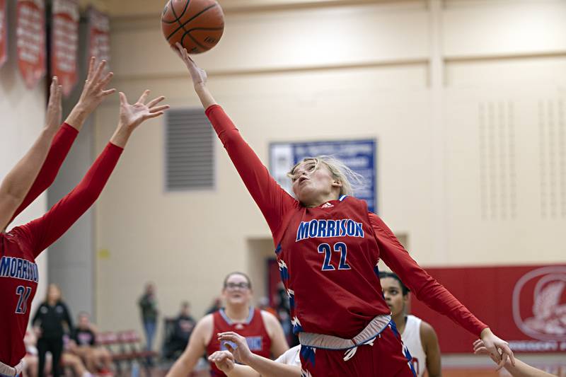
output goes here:
[{"label": "large beige back wall of the gym around the grey vent", "polygon": [[[199,107],[162,4],[125,16],[134,2],[114,3],[115,85]],[[263,161],[271,141],[374,137],[380,215],[422,265],[566,261],[564,1],[305,2],[228,6],[218,47],[195,58]],[[115,98],[96,115],[99,151],[116,117]],[[227,272],[262,276],[270,233],[221,145],[214,191],[168,193],[163,144],[163,121],[145,124],[96,209],[103,328],[139,328],[148,280],[163,314],[188,299],[202,315]]]}]

